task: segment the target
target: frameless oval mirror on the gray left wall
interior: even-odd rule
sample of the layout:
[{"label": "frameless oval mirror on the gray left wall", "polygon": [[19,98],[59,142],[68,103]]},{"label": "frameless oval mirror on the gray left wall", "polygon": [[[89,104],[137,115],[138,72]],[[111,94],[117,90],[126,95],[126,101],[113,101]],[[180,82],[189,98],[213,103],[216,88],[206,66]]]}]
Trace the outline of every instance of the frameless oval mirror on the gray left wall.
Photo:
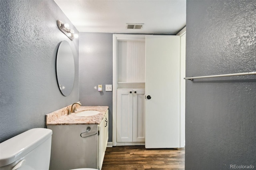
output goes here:
[{"label": "frameless oval mirror on the gray left wall", "polygon": [[62,41],[58,48],[56,74],[61,93],[68,96],[74,85],[75,63],[72,49],[67,41]]}]

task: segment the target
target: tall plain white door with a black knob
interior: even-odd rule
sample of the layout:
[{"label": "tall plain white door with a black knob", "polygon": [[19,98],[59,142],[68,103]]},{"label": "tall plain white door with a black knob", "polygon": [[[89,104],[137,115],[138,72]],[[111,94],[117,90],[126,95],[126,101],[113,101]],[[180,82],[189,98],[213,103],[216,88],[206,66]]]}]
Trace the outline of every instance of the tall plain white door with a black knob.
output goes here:
[{"label": "tall plain white door with a black knob", "polygon": [[180,36],[146,36],[145,89],[145,147],[180,147]]}]

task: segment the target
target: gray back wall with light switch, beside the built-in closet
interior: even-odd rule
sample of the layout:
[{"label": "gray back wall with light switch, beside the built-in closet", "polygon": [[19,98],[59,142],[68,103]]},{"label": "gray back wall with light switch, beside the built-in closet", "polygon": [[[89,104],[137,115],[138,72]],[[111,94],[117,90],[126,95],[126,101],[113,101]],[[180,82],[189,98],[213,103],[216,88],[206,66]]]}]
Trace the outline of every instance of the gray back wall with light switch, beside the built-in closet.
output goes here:
[{"label": "gray back wall with light switch, beside the built-in closet", "polygon": [[[83,106],[109,107],[109,139],[112,141],[113,34],[79,34],[79,100]],[[102,84],[103,91],[94,89]]]}]

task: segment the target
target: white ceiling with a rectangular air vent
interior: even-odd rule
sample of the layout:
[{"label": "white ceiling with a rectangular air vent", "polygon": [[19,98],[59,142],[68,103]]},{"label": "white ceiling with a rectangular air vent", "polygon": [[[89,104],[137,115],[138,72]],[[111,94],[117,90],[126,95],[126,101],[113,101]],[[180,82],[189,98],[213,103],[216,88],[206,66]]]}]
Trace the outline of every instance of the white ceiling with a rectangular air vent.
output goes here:
[{"label": "white ceiling with a rectangular air vent", "polygon": [[[79,32],[177,34],[186,26],[186,0],[54,1]],[[126,23],[144,26],[131,30]]]}]

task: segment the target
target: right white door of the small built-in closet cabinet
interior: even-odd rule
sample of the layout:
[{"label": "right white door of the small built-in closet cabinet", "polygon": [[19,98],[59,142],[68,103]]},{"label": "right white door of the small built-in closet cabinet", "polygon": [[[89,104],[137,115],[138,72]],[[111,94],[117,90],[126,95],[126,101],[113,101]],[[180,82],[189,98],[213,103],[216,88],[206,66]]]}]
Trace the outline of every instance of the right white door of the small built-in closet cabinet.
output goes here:
[{"label": "right white door of the small built-in closet cabinet", "polygon": [[145,90],[133,90],[133,142],[145,142]]}]

